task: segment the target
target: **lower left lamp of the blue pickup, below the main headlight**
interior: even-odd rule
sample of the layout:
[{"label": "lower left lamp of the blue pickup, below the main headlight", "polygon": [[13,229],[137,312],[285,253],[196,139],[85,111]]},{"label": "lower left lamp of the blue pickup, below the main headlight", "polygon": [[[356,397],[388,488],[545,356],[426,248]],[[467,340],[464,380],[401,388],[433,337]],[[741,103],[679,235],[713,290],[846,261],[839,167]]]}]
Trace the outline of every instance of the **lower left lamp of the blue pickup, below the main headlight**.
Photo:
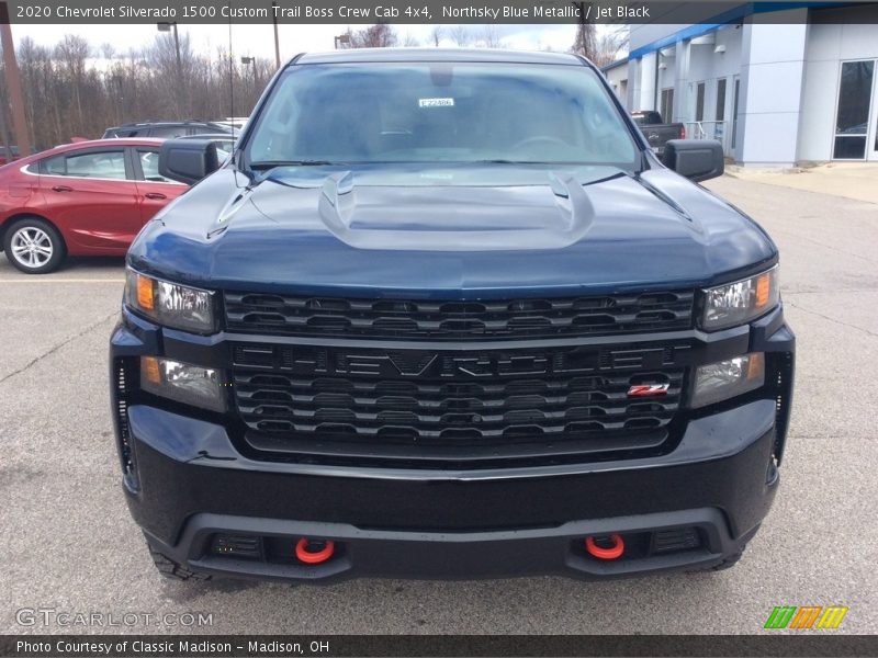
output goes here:
[{"label": "lower left lamp of the blue pickup, below the main headlight", "polygon": [[222,374],[213,367],[201,367],[157,356],[140,356],[140,388],[212,411],[226,409]]}]

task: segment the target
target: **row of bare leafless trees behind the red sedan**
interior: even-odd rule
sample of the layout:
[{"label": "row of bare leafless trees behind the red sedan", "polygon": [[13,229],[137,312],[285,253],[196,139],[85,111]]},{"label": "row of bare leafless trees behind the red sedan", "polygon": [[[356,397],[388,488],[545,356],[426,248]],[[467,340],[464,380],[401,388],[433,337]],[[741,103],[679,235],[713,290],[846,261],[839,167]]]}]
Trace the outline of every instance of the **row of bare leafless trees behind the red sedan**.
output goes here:
[{"label": "row of bare leafless trees behind the red sedan", "polygon": [[[233,109],[248,114],[274,72],[269,59],[241,65],[222,50],[213,58],[196,55],[184,34],[178,69],[172,39],[159,36],[155,45],[127,53],[91,48],[79,36],[66,36],[55,46],[22,38],[16,50],[32,144],[42,149],[74,136],[100,137],[105,128],[127,122],[216,120]],[[0,76],[0,126],[3,118],[9,125],[4,94]]]}]

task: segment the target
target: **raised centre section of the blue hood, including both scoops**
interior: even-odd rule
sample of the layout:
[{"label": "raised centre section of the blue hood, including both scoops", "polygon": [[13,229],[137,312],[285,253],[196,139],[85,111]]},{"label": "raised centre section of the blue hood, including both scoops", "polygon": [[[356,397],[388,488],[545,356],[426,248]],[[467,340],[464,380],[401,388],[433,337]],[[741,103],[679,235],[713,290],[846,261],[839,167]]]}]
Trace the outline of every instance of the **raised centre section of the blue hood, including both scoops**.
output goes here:
[{"label": "raised centre section of the blue hood, including both scoops", "polygon": [[509,186],[358,186],[338,172],[324,181],[318,213],[351,247],[424,251],[561,249],[595,218],[583,185],[554,172],[544,184]]}]

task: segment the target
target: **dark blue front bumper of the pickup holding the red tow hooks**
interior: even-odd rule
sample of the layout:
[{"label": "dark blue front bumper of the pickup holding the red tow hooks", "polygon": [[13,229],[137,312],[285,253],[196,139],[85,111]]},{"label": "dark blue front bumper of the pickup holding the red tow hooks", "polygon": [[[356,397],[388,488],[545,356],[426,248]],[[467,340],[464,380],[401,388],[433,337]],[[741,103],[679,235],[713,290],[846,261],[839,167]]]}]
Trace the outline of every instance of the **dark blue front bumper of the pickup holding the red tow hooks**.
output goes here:
[{"label": "dark blue front bumper of the pickup holding the red tow hooks", "polygon": [[[758,350],[791,361],[792,348],[778,311],[706,344],[705,354]],[[123,324],[111,360],[175,352],[182,353],[177,338]],[[224,424],[143,401],[125,409],[116,429],[131,453],[134,477],[124,481],[135,521],[155,549],[194,571],[312,581],[598,578],[707,568],[740,553],[779,481],[786,428],[777,409],[775,398],[757,396],[701,412],[674,450],[657,456],[477,470],[256,460]],[[653,551],[658,533],[675,530],[691,531],[698,542]],[[610,533],[626,538],[621,558],[585,552],[584,537]],[[217,535],[257,537],[266,548],[259,558],[217,554]],[[300,537],[333,540],[337,551],[305,565],[294,557]]]}]

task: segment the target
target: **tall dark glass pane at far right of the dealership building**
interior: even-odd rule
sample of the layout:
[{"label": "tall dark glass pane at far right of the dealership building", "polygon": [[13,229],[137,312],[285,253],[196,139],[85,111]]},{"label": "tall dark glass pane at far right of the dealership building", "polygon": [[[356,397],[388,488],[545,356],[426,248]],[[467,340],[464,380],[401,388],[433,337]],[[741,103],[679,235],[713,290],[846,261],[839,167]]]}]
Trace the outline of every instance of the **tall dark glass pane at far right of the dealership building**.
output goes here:
[{"label": "tall dark glass pane at far right of the dealership building", "polygon": [[866,157],[874,72],[874,60],[842,63],[832,149],[832,157],[836,160],[863,160]]}]

